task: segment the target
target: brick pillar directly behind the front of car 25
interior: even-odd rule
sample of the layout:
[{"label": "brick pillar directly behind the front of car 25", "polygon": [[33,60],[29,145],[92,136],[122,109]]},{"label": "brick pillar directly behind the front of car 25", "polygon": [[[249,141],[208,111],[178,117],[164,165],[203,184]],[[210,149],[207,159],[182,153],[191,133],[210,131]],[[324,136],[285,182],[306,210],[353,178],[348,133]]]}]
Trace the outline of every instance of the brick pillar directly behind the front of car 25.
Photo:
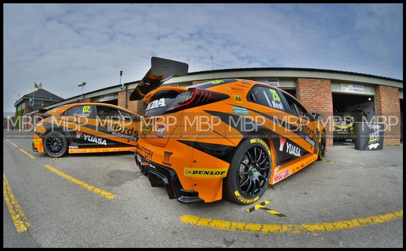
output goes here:
[{"label": "brick pillar directly behind the front of car 25", "polygon": [[298,78],[296,80],[296,98],[310,113],[317,112],[326,123],[327,145],[333,145],[333,99],[330,79]]}]

